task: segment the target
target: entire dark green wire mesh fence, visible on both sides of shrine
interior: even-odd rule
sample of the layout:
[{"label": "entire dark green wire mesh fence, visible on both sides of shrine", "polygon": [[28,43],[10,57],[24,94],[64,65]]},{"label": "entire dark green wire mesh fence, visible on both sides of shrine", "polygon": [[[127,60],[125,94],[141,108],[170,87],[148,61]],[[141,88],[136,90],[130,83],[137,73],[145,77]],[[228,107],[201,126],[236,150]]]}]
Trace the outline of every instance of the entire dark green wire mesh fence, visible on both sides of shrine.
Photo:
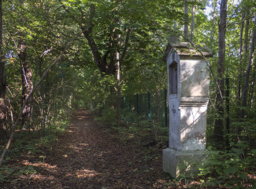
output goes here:
[{"label": "entire dark green wire mesh fence, visible on both sides of shrine", "polygon": [[[225,78],[225,93],[223,100],[216,98],[217,86],[210,83],[210,100],[207,111],[207,140],[213,139],[216,125],[216,104],[224,108],[223,127],[226,141],[232,138],[246,139],[256,146],[256,75]],[[154,93],[143,93],[134,96],[123,96],[121,100],[121,118],[130,124],[158,124],[169,127],[169,107],[166,100],[166,89]]]}]

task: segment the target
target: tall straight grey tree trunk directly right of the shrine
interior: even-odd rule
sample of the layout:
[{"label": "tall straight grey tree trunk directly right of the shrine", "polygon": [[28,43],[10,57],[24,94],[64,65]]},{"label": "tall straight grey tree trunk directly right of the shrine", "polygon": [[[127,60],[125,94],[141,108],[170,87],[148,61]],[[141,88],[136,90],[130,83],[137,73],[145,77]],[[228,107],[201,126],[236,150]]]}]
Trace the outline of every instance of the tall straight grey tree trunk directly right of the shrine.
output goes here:
[{"label": "tall straight grey tree trunk directly right of the shrine", "polygon": [[224,141],[224,107],[221,103],[224,94],[224,60],[225,60],[225,31],[227,20],[227,2],[228,0],[221,0],[220,21],[219,21],[219,52],[217,62],[217,83],[220,86],[220,90],[217,90],[218,104],[216,106],[217,116],[214,124],[214,139],[217,143],[222,144]]}]

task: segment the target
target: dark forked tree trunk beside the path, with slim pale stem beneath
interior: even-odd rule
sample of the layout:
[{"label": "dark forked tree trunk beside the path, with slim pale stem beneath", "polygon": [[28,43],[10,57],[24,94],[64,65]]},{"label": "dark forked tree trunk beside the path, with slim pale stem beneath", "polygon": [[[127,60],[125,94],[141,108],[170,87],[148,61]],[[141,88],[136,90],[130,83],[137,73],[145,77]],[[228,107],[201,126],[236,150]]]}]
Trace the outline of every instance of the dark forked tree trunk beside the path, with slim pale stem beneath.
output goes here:
[{"label": "dark forked tree trunk beside the path, with slim pale stem beneath", "polygon": [[[59,0],[62,7],[65,9],[67,13],[69,13],[69,9],[65,7],[65,5]],[[88,45],[91,48],[91,53],[94,56],[95,63],[98,65],[98,70],[100,71],[102,77],[105,75],[116,75],[117,74],[117,126],[120,125],[121,118],[120,118],[120,112],[121,112],[121,61],[124,60],[125,53],[128,50],[128,41],[129,36],[131,33],[131,28],[128,29],[127,36],[124,42],[124,49],[123,52],[120,53],[121,49],[121,35],[118,35],[116,33],[116,29],[114,28],[113,31],[110,31],[109,36],[109,47],[106,49],[105,53],[102,54],[99,49],[98,45],[95,42],[95,39],[92,37],[93,32],[93,19],[95,16],[95,5],[91,4],[90,7],[90,16],[89,16],[89,23],[87,24],[86,21],[86,13],[81,10],[81,18],[80,18],[80,28],[83,31],[84,37],[87,39]],[[76,20],[76,17],[72,16],[73,20]],[[120,24],[120,19],[116,17],[116,15],[113,17],[113,21],[115,24]],[[109,62],[107,61],[107,57],[109,57]]]}]

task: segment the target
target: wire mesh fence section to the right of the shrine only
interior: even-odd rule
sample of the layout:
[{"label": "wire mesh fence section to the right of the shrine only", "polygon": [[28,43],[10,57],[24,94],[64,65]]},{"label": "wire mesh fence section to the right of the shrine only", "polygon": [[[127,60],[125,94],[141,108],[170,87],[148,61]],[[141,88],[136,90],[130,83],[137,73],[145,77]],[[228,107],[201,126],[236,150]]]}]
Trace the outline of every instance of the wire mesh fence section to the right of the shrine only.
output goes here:
[{"label": "wire mesh fence section to the right of the shrine only", "polygon": [[[217,99],[217,85],[210,85],[210,103],[207,111],[207,140],[213,142],[217,116],[216,105],[222,104],[223,135],[226,146],[232,141],[247,141],[256,147],[256,88],[255,74],[226,77],[223,100]],[[246,82],[248,81],[248,82]],[[221,125],[219,125],[221,126]]]}]

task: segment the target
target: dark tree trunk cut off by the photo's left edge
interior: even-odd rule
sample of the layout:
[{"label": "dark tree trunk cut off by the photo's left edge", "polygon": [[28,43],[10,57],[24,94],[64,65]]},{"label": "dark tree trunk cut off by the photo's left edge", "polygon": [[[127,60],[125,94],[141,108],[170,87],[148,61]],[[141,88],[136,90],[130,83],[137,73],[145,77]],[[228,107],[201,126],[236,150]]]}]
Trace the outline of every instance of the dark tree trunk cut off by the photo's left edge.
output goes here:
[{"label": "dark tree trunk cut off by the photo's left edge", "polygon": [[6,140],[6,67],[2,53],[2,0],[0,0],[0,141]]}]

